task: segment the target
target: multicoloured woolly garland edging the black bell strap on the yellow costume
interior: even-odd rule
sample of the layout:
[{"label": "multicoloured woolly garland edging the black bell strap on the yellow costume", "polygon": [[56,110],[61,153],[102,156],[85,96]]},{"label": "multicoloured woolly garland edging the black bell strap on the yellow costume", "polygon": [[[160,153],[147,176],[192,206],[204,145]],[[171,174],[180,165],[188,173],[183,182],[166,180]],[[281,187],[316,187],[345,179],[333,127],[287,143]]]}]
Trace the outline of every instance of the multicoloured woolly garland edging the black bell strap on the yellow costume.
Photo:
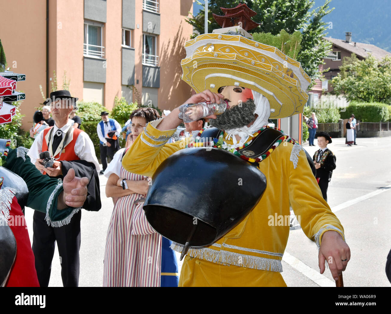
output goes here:
[{"label": "multicoloured woolly garland edging the black bell strap on the yellow costume", "polygon": [[[230,145],[224,144],[224,132],[222,131],[220,133],[220,135],[219,135],[219,138],[213,138],[213,144],[214,145],[212,147],[219,148],[219,149],[224,149],[226,151],[230,151],[231,153],[233,153],[233,154],[239,156],[240,158],[242,158],[244,160],[247,160],[247,161],[249,161],[251,163],[260,163],[262,160],[267,158],[274,151],[274,149],[276,149],[276,147],[278,145],[280,145],[281,142],[288,142],[288,143],[292,143],[292,144],[298,144],[298,142],[296,140],[294,140],[293,138],[289,137],[288,135],[283,135],[273,144],[273,146],[265,154],[261,155],[258,158],[249,158],[249,157],[244,156],[244,155],[239,153],[239,151],[241,149],[247,147],[253,141],[253,139],[256,136],[258,136],[262,131],[264,131],[265,129],[268,129],[268,128],[269,128],[269,126],[262,127],[262,129],[258,130],[253,135],[253,138],[251,139],[251,141],[245,143],[242,147],[237,147],[236,149],[235,148],[231,148]],[[283,133],[283,131],[281,131],[281,129],[278,129],[276,127],[273,127],[273,129],[278,130],[278,131]],[[198,133],[197,137],[200,137],[202,135],[203,131],[204,131],[204,129],[202,129],[200,131],[200,133]],[[190,145],[189,145],[189,147],[190,147]]]}]

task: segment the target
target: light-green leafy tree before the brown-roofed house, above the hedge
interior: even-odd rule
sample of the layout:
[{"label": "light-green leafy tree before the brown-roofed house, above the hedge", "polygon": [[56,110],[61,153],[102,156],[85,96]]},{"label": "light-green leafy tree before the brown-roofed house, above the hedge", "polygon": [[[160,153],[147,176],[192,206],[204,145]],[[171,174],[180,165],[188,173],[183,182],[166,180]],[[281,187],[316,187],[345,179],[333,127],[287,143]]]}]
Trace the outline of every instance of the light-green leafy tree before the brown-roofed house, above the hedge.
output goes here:
[{"label": "light-green leafy tree before the brown-roofed house, above the hedge", "polygon": [[371,55],[359,61],[352,54],[343,59],[339,69],[341,72],[332,80],[334,93],[344,93],[349,101],[391,104],[390,56],[378,62]]}]

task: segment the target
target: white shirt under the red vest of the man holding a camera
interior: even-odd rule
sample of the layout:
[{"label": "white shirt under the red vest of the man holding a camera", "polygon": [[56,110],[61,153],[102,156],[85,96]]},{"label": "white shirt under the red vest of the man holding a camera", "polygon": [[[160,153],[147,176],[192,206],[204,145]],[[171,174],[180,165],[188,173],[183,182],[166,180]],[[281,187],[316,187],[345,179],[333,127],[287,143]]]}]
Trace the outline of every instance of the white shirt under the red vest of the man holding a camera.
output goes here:
[{"label": "white shirt under the red vest of the man holding a camera", "polygon": [[[67,124],[65,126],[61,127],[60,130],[63,131],[63,138],[68,131],[70,127],[72,127],[73,120],[68,120]],[[57,130],[59,129],[56,124],[54,124],[54,130],[52,133],[52,139],[51,142],[53,143],[54,135],[56,134]],[[39,133],[39,135],[34,140],[34,143],[31,145],[29,153],[30,160],[32,163],[35,164],[37,159],[39,158],[39,154],[42,153],[42,143],[43,143],[43,132]],[[48,146],[51,143],[48,143]],[[94,145],[92,144],[92,141],[90,139],[90,136],[86,132],[81,132],[79,136],[76,139],[75,143],[75,154],[77,157],[79,157],[81,160],[92,162],[95,165],[95,168],[99,172],[99,163],[97,156],[95,155],[95,149]],[[43,172],[43,171],[41,171]]]}]

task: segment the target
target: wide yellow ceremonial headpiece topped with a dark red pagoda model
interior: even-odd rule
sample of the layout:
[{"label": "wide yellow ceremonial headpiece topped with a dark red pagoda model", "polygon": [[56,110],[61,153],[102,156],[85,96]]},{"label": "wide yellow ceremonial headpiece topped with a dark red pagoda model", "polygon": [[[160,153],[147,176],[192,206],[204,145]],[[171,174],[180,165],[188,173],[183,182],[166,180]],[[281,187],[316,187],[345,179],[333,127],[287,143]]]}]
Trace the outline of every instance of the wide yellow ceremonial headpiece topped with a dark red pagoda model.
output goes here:
[{"label": "wide yellow ceremonial headpiece topped with a dark red pagoda model", "polygon": [[[246,5],[221,9],[227,14],[215,16],[221,26],[232,25],[227,21],[233,19],[240,20],[239,26],[217,29],[187,41],[186,57],[181,61],[183,81],[197,93],[206,89],[217,93],[221,86],[249,88],[269,100],[270,118],[303,113],[311,79],[300,63],[276,47],[253,40],[247,29],[257,26],[249,19],[255,12]],[[240,25],[247,26],[244,29]]]}]

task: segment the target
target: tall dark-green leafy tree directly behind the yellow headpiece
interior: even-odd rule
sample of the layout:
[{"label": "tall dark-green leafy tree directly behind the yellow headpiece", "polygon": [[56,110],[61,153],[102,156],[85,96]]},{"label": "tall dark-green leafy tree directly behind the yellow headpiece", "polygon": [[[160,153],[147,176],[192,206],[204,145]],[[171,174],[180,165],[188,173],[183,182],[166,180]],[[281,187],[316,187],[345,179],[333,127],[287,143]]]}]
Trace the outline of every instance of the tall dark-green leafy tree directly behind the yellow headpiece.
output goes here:
[{"label": "tall dark-green leafy tree directly behind the yellow headpiece", "polygon": [[[253,16],[253,21],[260,23],[259,27],[252,30],[253,32],[277,35],[281,30],[285,30],[289,34],[301,31],[303,36],[301,52],[296,57],[301,62],[303,69],[313,79],[312,84],[314,84],[314,79],[322,75],[319,73],[319,65],[323,63],[323,58],[331,49],[331,43],[322,38],[326,35],[328,24],[321,21],[325,15],[333,10],[328,9],[330,1],[326,0],[325,4],[310,11],[315,3],[314,0],[210,0],[208,4],[208,32],[221,28],[215,22],[212,13],[223,15],[220,7],[232,8],[239,3],[245,3],[257,13],[256,16]],[[205,10],[202,9],[197,16],[187,19],[187,22],[193,25],[200,34],[204,33],[204,16]],[[196,33],[192,34],[191,38],[195,36],[197,36]]]}]

